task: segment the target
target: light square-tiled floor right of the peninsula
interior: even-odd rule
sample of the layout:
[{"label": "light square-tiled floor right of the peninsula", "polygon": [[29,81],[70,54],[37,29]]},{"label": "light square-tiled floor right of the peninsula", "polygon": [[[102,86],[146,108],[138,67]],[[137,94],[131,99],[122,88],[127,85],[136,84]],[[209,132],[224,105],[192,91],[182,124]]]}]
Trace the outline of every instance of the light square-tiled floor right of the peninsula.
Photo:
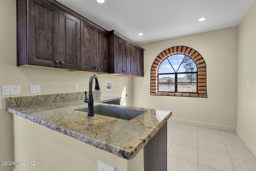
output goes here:
[{"label": "light square-tiled floor right of the peninsula", "polygon": [[167,123],[168,171],[256,171],[256,158],[236,133]]}]

